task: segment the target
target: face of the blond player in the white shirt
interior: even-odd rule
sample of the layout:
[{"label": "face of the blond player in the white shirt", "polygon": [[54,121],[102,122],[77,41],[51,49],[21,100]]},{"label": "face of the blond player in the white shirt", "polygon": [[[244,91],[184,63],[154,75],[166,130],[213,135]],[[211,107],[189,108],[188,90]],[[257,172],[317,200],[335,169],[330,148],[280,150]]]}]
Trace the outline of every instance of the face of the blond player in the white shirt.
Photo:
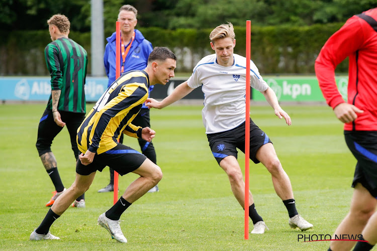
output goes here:
[{"label": "face of the blond player in the white shirt", "polygon": [[216,53],[217,63],[221,66],[233,65],[233,48],[236,46],[236,40],[232,38],[220,38],[211,47]]}]

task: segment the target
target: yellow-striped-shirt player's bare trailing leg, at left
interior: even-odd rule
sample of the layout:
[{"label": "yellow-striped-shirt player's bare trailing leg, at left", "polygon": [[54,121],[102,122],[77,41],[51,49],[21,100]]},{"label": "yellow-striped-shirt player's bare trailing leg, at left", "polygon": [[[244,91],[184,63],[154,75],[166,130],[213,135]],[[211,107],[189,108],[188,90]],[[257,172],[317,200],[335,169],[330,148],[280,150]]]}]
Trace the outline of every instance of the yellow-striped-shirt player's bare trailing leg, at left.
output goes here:
[{"label": "yellow-striped-shirt player's bare trailing leg, at left", "polygon": [[78,196],[89,189],[95,176],[96,172],[86,176],[76,173],[76,178],[70,188],[55,200],[51,207],[52,211],[58,215],[62,215]]}]

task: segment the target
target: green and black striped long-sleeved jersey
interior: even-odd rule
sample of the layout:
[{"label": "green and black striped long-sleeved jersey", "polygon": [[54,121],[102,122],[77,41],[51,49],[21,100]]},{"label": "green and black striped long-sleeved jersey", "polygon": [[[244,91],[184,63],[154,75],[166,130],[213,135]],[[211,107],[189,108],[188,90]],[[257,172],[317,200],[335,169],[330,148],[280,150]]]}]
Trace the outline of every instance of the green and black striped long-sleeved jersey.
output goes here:
[{"label": "green and black striped long-sleeved jersey", "polygon": [[[58,110],[85,113],[85,49],[72,39],[59,38],[46,46],[45,58],[51,75],[51,90],[61,90]],[[52,109],[51,98],[50,95],[49,109]]]}]

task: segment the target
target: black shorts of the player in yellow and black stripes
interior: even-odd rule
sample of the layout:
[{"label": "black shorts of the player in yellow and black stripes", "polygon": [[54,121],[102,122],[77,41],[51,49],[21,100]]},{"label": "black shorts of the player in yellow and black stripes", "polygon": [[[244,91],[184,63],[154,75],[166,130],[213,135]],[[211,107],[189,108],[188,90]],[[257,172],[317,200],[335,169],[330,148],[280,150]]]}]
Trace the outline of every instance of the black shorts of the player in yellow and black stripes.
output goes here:
[{"label": "black shorts of the player in yellow and black stripes", "polygon": [[138,151],[118,143],[118,146],[115,148],[102,154],[96,154],[93,162],[87,166],[82,165],[78,159],[76,173],[89,175],[97,170],[102,172],[108,166],[120,175],[125,175],[138,169],[146,158]]}]

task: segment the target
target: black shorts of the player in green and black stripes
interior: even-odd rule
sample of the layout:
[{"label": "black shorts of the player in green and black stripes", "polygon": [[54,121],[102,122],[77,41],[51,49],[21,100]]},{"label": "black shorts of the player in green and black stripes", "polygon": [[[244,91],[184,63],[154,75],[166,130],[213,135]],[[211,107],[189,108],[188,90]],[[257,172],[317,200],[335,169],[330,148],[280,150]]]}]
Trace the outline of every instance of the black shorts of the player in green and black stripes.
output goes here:
[{"label": "black shorts of the player in green and black stripes", "polygon": [[[69,112],[69,111],[59,111],[61,120],[65,122],[67,127],[72,151],[74,153],[75,159],[78,156],[78,148],[76,142],[77,129],[80,127],[80,124],[85,118],[85,113]],[[38,138],[36,147],[39,153],[39,156],[51,152],[51,144],[54,138],[60,133],[62,127],[59,127],[52,115],[52,110],[45,109],[43,115],[39,121],[38,126]]]}]

